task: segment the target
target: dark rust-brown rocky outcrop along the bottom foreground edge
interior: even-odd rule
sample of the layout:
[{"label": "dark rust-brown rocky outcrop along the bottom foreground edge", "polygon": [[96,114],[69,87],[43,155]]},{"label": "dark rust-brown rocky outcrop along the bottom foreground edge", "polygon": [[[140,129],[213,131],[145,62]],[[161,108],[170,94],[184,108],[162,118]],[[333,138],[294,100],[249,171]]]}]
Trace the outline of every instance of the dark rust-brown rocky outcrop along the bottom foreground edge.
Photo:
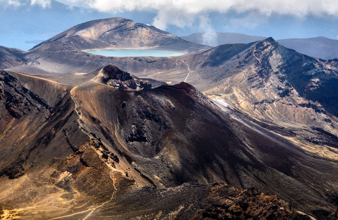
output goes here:
[{"label": "dark rust-brown rocky outcrop along the bottom foreground edge", "polygon": [[[127,201],[130,206],[118,206]],[[139,204],[147,213],[138,210]],[[277,196],[264,195],[257,189],[238,190],[222,183],[185,183],[165,189],[141,187],[105,208],[131,220],[153,220],[154,216],[163,220],[311,220]]]}]

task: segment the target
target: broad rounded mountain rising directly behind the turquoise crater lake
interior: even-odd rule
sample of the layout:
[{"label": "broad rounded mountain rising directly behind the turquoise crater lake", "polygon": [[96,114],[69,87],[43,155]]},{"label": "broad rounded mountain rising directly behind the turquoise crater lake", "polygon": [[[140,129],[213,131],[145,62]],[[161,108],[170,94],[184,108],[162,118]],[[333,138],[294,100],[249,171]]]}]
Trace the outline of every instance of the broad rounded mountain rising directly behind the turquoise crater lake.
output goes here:
[{"label": "broad rounded mountain rising directly behind the turquoise crater lake", "polygon": [[31,51],[162,48],[195,51],[205,45],[189,42],[154,26],[125,18],[94,20],[76,25],[36,46]]}]

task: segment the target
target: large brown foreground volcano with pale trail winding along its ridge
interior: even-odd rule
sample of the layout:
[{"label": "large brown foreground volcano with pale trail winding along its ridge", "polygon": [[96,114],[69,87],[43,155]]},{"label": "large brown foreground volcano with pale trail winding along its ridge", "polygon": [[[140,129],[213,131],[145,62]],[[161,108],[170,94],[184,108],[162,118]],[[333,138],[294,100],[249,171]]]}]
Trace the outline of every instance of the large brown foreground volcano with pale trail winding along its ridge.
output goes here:
[{"label": "large brown foreground volcano with pale trail winding along its ridge", "polygon": [[108,78],[123,72],[105,66],[47,79],[1,71],[2,216],[309,219],[276,196],[240,190],[252,187],[319,218],[334,211],[334,158],[307,152],[184,82],[110,86]]}]

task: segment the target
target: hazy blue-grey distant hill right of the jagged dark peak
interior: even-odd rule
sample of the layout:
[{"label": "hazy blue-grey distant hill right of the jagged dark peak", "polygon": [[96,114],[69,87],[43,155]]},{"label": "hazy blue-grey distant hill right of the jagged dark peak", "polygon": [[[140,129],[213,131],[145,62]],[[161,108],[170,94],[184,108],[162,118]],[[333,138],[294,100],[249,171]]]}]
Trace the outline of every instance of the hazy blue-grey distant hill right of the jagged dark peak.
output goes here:
[{"label": "hazy blue-grey distant hill right of the jagged dark peak", "polygon": [[277,42],[311,57],[325,60],[338,58],[338,40],[327,37],[292,38],[277,40]]}]

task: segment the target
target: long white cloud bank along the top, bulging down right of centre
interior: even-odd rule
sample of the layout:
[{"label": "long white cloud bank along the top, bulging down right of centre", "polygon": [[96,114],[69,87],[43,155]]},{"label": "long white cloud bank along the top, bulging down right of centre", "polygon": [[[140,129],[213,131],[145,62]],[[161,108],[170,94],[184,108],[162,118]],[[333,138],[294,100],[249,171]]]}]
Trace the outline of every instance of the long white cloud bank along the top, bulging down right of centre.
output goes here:
[{"label": "long white cloud bank along the top, bulging down right of centre", "polygon": [[[46,1],[46,0],[31,0]],[[191,26],[200,14],[209,11],[237,12],[254,11],[257,14],[291,14],[303,17],[307,14],[338,15],[337,0],[67,0],[87,5],[103,12],[156,10],[153,25],[166,29],[173,24],[178,27]]]}]

